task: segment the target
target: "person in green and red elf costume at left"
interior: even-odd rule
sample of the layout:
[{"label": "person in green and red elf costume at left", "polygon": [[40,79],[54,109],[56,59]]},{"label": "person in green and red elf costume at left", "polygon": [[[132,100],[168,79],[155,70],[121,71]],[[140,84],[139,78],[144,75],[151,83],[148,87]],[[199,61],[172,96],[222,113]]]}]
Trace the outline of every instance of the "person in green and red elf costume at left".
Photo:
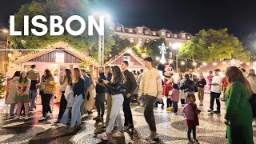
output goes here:
[{"label": "person in green and red elf costume at left", "polygon": [[26,71],[22,71],[18,81],[16,82],[15,103],[17,104],[17,110],[16,117],[14,119],[18,119],[20,116],[22,103],[24,103],[25,108],[25,120],[29,119],[27,116],[29,114],[29,102],[31,101],[30,84],[30,79],[26,78]]}]

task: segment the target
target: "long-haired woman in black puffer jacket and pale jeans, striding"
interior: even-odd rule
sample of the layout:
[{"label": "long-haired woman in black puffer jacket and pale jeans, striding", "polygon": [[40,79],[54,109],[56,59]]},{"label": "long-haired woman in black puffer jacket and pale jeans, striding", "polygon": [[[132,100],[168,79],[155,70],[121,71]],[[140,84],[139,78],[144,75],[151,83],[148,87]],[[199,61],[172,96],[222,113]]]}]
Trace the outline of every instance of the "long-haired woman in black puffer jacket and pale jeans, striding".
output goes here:
[{"label": "long-haired woman in black puffer jacket and pale jeans, striding", "polygon": [[120,109],[122,107],[122,103],[124,101],[123,93],[125,92],[125,76],[122,74],[122,71],[118,66],[113,66],[111,69],[111,73],[113,74],[113,80],[111,82],[103,80],[105,85],[110,90],[110,94],[112,97],[112,107],[110,112],[110,121],[106,126],[106,132],[102,134],[98,134],[97,138],[107,140],[110,137],[112,130],[114,129],[114,122],[118,123],[118,131],[113,134],[113,137],[123,137],[122,130],[122,118],[120,115]]}]

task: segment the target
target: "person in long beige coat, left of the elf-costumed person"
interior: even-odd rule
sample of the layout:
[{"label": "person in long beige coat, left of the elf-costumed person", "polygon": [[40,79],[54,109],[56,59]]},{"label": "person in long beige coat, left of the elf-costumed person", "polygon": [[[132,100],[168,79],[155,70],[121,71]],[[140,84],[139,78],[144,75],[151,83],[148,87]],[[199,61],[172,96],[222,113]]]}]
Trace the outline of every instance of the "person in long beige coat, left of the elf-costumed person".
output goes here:
[{"label": "person in long beige coat, left of the elf-costumed person", "polygon": [[9,84],[9,93],[6,98],[6,104],[10,104],[10,112],[9,112],[9,118],[14,118],[14,108],[15,108],[15,95],[16,95],[16,83],[18,82],[18,78],[20,77],[21,72],[16,71],[14,73],[13,78],[10,80]]}]

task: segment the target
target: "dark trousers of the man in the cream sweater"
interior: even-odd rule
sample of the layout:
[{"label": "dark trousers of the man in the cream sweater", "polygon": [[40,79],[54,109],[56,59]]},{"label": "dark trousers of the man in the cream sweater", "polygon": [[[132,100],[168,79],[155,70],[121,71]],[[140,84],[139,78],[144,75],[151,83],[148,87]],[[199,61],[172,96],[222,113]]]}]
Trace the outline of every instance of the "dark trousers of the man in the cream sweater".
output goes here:
[{"label": "dark trousers of the man in the cream sweater", "polygon": [[155,126],[154,120],[154,103],[156,97],[145,95],[145,110],[144,110],[144,117],[146,119],[147,124],[150,126],[151,132],[157,132],[157,128]]}]

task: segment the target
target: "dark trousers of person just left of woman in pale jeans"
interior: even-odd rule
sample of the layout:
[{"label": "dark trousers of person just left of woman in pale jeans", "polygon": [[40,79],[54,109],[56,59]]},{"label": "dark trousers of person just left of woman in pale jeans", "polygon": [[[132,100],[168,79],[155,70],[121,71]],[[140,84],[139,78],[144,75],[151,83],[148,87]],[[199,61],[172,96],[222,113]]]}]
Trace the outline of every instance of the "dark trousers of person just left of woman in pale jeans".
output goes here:
[{"label": "dark trousers of person just left of woman in pale jeans", "polygon": [[[103,117],[104,115],[104,112],[105,112],[104,102],[105,102],[105,93],[97,93],[95,98],[95,105],[98,112],[98,116]],[[101,111],[102,111],[102,114],[101,114]]]}]

